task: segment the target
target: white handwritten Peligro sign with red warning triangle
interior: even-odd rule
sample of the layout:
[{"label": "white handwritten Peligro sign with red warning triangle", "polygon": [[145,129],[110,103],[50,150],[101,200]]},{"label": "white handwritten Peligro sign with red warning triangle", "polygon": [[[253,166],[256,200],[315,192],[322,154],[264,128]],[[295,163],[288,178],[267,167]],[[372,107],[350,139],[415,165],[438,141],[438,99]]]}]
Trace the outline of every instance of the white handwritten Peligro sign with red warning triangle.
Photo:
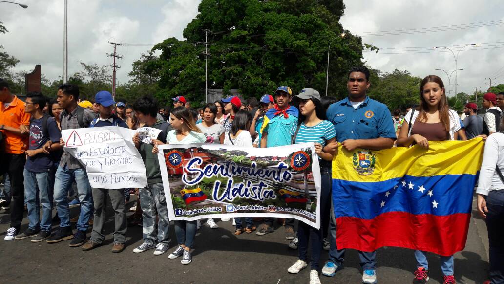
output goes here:
[{"label": "white handwritten Peligro sign with red warning triangle", "polygon": [[94,188],[143,188],[147,175],[133,143],[136,131],[118,126],[61,131],[65,151],[86,168]]}]

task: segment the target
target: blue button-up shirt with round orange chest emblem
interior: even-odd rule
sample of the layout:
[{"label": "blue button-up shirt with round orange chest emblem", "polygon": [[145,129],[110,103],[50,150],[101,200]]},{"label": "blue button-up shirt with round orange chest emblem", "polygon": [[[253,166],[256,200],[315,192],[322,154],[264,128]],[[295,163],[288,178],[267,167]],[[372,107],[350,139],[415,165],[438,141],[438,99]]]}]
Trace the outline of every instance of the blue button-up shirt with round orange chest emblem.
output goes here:
[{"label": "blue button-up shirt with round orange chest emblem", "polygon": [[327,109],[327,118],[334,125],[336,140],[347,139],[396,139],[394,123],[387,106],[366,96],[354,108],[347,98],[335,102]]}]

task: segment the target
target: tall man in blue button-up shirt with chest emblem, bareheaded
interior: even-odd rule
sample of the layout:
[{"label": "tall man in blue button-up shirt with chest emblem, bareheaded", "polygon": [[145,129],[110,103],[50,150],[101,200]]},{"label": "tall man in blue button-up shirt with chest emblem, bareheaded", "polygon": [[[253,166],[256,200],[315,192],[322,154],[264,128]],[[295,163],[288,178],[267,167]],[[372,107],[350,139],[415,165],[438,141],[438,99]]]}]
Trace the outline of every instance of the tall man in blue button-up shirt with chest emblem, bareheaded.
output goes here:
[{"label": "tall man in blue button-up shirt with chest emblem, bareheaded", "polygon": [[[390,110],[381,102],[370,99],[369,70],[364,66],[354,66],[348,74],[348,97],[331,104],[327,118],[334,125],[336,140],[348,151],[356,148],[381,150],[391,148],[396,140]],[[335,153],[338,142],[324,147],[324,151]],[[337,189],[333,189],[337,190]],[[336,248],[336,220],[331,213],[331,249],[329,260],[322,269],[326,276],[333,276],[343,264],[345,250]],[[376,283],[376,253],[359,251],[360,265],[364,270],[362,282]]]}]

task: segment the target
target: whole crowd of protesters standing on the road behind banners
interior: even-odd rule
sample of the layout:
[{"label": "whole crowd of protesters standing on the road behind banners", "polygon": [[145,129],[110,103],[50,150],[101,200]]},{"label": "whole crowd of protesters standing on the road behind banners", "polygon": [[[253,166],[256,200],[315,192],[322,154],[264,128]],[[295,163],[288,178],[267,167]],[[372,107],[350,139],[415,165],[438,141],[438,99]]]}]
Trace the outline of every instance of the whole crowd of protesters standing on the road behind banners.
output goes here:
[{"label": "whole crowd of protesters standing on the road behind banners", "polygon": [[[391,116],[381,102],[367,96],[369,71],[355,66],[348,72],[348,95],[336,101],[321,96],[317,90],[302,89],[293,95],[288,86],[280,86],[273,95],[265,94],[259,101],[250,96],[242,101],[230,96],[191,108],[184,96],[172,98],[173,108],[160,107],[155,99],[144,96],[131,104],[115,102],[107,91],[95,95],[94,102],[80,100],[79,87],[59,86],[57,98],[47,101],[38,92],[27,94],[26,102],[10,92],[8,83],[0,79],[0,140],[2,141],[2,171],[4,195],[0,206],[9,206],[10,228],[5,240],[48,244],[70,240],[70,247],[89,251],[102,245],[107,194],[114,211],[115,230],[112,253],[124,250],[128,225],[143,227],[143,243],[133,250],[142,253],[153,249],[162,255],[170,248],[168,212],[157,157],[158,145],[216,143],[241,147],[276,147],[314,142],[320,161],[322,185],[320,192],[321,228],[315,229],[294,219],[279,220],[285,228],[289,247],[298,250],[299,259],[287,271],[298,273],[310,265],[309,282],[320,283],[320,259],[323,250],[329,259],[322,274],[334,276],[342,268],[345,249],[336,243],[336,221],[331,202],[331,160],[342,146],[348,151],[357,148],[381,150],[395,146],[418,144],[428,148],[429,141],[486,139],[483,165],[477,187],[478,210],[486,218],[490,244],[491,283],[504,281],[504,130],[502,114],[504,93],[487,93],[483,105],[484,118],[477,116],[478,107],[468,103],[462,121],[448,105],[443,81],[434,75],[425,77],[419,90],[419,104],[409,107],[404,118],[400,110]],[[151,127],[160,130],[152,144],[143,143],[138,134],[133,142],[144,161],[147,186],[140,189],[91,188],[86,169],[65,149],[61,131],[86,127]],[[24,171],[20,171],[23,168]],[[130,195],[138,193],[135,211],[127,218],[125,205]],[[372,201],[369,201],[372,202]],[[24,208],[29,225],[23,232]],[[71,206],[80,206],[80,213],[70,218]],[[52,216],[56,208],[57,215]],[[40,210],[42,216],[40,216]],[[51,223],[57,220],[57,228]],[[220,221],[231,221],[222,218]],[[72,221],[77,222],[76,230]],[[243,223],[244,221],[244,223]],[[264,236],[274,232],[274,219],[266,217],[256,226],[251,217],[235,218],[234,234],[256,232]],[[213,219],[206,225],[218,227]],[[92,226],[88,239],[88,229]],[[181,264],[192,262],[196,232],[200,221],[174,221],[177,246],[168,256],[181,257]],[[311,246],[308,246],[311,243]],[[443,244],[439,244],[443,246]],[[308,248],[309,254],[308,257]],[[412,252],[417,260],[413,283],[426,283],[428,263],[423,251]],[[362,282],[376,283],[376,252],[359,251]],[[453,256],[440,256],[444,283],[455,283]]]}]

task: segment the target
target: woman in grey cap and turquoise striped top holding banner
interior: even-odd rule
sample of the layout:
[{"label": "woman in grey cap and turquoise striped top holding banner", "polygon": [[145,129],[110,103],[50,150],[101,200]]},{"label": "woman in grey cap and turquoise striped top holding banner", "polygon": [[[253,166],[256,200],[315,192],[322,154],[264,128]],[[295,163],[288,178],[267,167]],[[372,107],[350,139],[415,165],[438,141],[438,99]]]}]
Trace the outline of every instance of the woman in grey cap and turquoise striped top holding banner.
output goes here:
[{"label": "woman in grey cap and turquoise striped top holding banner", "polygon": [[319,278],[319,261],[322,251],[322,237],[324,223],[329,222],[331,209],[331,173],[329,163],[333,155],[324,152],[323,147],[334,142],[336,132],[331,122],[326,120],[325,109],[320,101],[320,93],[313,89],[302,89],[299,95],[294,96],[299,102],[299,122],[290,129],[292,144],[315,142],[315,151],[319,155],[320,173],[322,178],[321,194],[318,200],[320,204],[320,216],[322,217],[321,229],[299,222],[297,229],[298,256],[299,259],[287,270],[290,273],[298,273],[304,269],[308,259],[308,239],[311,241],[311,270],[310,284],[321,283]]}]

